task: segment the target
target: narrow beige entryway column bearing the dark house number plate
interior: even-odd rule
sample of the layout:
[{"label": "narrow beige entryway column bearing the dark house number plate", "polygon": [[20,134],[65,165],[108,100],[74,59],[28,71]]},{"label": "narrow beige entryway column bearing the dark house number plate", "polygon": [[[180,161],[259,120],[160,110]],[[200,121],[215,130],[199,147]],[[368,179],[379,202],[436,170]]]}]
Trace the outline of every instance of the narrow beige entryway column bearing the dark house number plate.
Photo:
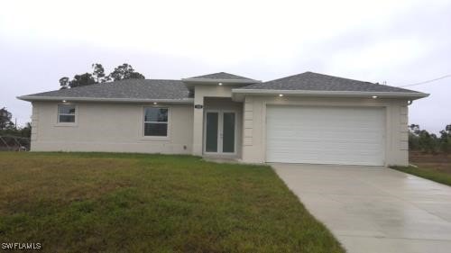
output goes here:
[{"label": "narrow beige entryway column bearing the dark house number plate", "polygon": [[[200,105],[200,106],[199,106]],[[202,156],[204,129],[204,96],[194,95],[193,151],[194,156]]]}]

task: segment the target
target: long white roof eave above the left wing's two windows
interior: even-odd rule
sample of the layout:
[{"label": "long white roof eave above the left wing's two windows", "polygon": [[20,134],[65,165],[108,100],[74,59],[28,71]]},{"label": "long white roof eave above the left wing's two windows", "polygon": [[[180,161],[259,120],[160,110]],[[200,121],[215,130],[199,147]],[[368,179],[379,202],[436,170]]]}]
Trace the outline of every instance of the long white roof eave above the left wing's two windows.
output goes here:
[{"label": "long white roof eave above the left wing's two windows", "polygon": [[68,102],[115,102],[115,103],[165,103],[165,104],[194,104],[193,98],[161,99],[161,98],[106,98],[106,97],[70,97],[70,96],[41,96],[22,95],[17,99],[33,101],[63,101]]}]

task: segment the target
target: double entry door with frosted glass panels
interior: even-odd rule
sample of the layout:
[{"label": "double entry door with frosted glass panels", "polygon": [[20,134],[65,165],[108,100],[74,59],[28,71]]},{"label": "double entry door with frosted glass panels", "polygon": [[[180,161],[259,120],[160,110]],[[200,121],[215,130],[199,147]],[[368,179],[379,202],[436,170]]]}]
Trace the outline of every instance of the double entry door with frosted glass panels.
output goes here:
[{"label": "double entry door with frosted glass panels", "polygon": [[207,110],[205,115],[204,152],[207,154],[235,154],[236,113]]}]

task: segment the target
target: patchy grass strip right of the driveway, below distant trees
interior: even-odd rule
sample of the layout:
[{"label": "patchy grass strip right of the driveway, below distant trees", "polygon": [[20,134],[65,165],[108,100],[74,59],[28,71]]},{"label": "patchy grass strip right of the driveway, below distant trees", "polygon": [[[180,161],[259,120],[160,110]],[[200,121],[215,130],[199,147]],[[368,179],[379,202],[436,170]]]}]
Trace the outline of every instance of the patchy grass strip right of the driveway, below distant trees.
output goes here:
[{"label": "patchy grass strip right of the driveway, below distant trees", "polygon": [[410,162],[417,167],[393,167],[400,171],[451,186],[451,157],[445,154],[410,153]]}]

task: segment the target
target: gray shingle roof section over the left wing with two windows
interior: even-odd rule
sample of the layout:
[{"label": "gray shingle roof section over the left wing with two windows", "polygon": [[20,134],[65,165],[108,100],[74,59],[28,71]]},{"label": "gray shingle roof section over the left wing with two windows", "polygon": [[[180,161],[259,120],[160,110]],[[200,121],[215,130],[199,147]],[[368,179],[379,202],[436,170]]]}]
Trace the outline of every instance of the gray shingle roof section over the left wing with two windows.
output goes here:
[{"label": "gray shingle roof section over the left wing with two windows", "polygon": [[79,86],[25,96],[87,97],[120,99],[186,99],[189,90],[179,80],[127,79],[104,84]]}]

